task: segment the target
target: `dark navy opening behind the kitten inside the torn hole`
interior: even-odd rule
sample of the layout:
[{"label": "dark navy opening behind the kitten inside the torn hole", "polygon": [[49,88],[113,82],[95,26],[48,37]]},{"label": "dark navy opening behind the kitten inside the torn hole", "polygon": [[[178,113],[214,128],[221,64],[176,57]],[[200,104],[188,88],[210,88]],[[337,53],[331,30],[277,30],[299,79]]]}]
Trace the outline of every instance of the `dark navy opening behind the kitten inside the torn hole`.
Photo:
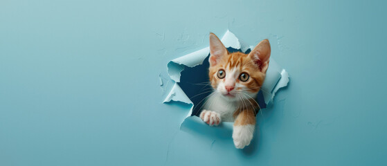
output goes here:
[{"label": "dark navy opening behind the kitten inside the torn hole", "polygon": [[[229,53],[242,52],[240,49],[231,47],[227,48],[227,50]],[[245,53],[248,54],[250,51],[251,49],[248,49]],[[201,107],[206,102],[206,98],[213,92],[213,87],[210,85],[208,77],[208,68],[210,66],[208,57],[204,59],[203,64],[193,68],[185,66],[181,72],[180,82],[178,84],[194,104],[191,116],[199,116]],[[257,100],[261,109],[266,108],[262,91],[258,93],[255,100]]]}]

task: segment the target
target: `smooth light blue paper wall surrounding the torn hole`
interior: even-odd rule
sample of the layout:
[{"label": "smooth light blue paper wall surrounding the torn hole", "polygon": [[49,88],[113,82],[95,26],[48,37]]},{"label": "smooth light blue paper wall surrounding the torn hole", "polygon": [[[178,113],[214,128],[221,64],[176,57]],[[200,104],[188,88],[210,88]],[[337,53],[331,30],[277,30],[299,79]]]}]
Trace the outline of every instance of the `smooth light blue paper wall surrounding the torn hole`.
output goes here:
[{"label": "smooth light blue paper wall surrounding the torn hole", "polygon": [[[2,0],[0,165],[387,165],[385,7]],[[169,60],[228,28],[271,39],[291,77],[244,150],[180,131],[187,107],[161,104]]]}]

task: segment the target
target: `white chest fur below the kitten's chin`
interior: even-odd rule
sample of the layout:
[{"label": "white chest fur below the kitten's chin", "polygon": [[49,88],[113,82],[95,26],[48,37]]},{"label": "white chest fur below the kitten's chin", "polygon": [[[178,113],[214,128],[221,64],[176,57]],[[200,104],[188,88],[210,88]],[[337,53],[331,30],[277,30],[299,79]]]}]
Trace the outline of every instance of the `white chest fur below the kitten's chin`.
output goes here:
[{"label": "white chest fur below the kitten's chin", "polygon": [[231,102],[221,95],[212,94],[204,103],[204,109],[219,113],[223,122],[233,122],[233,114],[237,109],[237,102]]}]

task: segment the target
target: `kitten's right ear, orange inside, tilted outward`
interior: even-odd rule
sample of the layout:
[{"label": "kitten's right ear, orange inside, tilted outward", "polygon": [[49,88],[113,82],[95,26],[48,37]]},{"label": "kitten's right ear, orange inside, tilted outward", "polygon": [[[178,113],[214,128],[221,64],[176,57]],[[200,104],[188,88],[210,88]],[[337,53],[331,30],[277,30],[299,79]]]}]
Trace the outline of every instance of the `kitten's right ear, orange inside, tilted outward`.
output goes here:
[{"label": "kitten's right ear, orange inside, tilted outward", "polygon": [[253,50],[249,53],[249,57],[253,59],[254,63],[260,68],[260,71],[266,73],[269,67],[271,48],[268,39],[262,40]]}]

